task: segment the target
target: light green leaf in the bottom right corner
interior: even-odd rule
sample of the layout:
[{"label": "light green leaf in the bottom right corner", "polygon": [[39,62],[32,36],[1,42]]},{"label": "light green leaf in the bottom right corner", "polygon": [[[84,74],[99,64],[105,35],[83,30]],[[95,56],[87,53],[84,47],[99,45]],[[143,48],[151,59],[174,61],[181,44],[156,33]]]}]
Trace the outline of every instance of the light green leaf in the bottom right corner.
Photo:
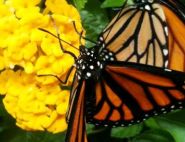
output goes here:
[{"label": "light green leaf in the bottom right corner", "polygon": [[173,136],[175,142],[185,141],[185,123],[163,117],[157,118],[156,120],[162,129],[168,131]]}]

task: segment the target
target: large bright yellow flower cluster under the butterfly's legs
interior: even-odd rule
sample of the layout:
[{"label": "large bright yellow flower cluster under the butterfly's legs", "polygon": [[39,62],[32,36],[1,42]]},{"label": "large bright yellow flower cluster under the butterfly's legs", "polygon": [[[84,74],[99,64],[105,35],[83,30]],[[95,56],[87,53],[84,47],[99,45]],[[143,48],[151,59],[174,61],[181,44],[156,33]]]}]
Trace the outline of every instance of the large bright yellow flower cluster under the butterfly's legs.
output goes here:
[{"label": "large bright yellow flower cluster under the butterfly's legs", "polygon": [[[61,50],[56,37],[79,47],[82,30],[78,11],[66,0],[0,1],[0,94],[16,124],[26,130],[60,132],[66,129],[69,91],[52,74],[64,77],[74,58]],[[51,16],[50,16],[51,15]],[[52,17],[52,18],[51,18]],[[79,51],[62,42],[65,50]],[[17,70],[18,68],[18,70]],[[72,81],[70,76],[68,85]]]}]

